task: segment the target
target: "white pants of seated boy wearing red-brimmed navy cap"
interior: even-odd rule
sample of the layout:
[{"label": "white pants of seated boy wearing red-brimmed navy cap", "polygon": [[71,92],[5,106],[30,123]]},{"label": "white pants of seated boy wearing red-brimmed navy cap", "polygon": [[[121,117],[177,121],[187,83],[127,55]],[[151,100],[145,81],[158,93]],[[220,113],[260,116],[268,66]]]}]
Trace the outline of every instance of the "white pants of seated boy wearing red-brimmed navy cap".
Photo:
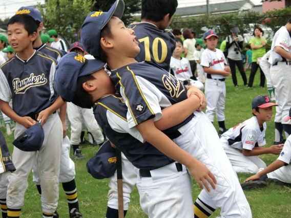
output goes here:
[{"label": "white pants of seated boy wearing red-brimmed navy cap", "polygon": [[257,156],[246,157],[239,149],[228,145],[222,137],[220,139],[223,149],[228,159],[230,159],[236,172],[257,173],[259,168],[266,168],[267,165]]}]

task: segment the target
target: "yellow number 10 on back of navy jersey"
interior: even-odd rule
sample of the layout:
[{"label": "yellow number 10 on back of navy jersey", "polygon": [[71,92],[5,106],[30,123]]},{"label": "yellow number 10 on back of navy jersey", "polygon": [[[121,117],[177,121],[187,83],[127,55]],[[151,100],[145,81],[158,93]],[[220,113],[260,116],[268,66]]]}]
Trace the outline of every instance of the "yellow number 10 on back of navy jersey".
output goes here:
[{"label": "yellow number 10 on back of navy jersey", "polygon": [[[138,41],[139,42],[144,42],[144,53],[146,54],[145,60],[151,61],[150,38],[149,38],[149,36],[141,38],[141,39],[138,39]],[[161,43],[161,49],[162,49],[161,58],[159,58],[159,54],[158,54],[159,42]],[[153,41],[152,51],[153,51],[153,57],[154,57],[155,61],[157,63],[162,63],[165,60],[165,58],[167,57],[167,54],[168,54],[167,44],[165,43],[165,41],[162,38],[157,37]]]}]

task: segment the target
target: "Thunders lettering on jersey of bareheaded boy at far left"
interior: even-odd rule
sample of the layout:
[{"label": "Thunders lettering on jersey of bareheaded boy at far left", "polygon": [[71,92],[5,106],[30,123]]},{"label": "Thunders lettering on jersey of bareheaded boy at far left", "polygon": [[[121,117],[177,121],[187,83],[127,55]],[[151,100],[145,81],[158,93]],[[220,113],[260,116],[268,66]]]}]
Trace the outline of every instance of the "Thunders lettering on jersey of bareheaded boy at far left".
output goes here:
[{"label": "Thunders lettering on jersey of bareheaded boy at far left", "polygon": [[20,80],[15,78],[12,80],[13,91],[15,94],[24,94],[28,89],[35,86],[44,85],[48,82],[45,74],[34,76],[33,73],[30,74],[30,77]]}]

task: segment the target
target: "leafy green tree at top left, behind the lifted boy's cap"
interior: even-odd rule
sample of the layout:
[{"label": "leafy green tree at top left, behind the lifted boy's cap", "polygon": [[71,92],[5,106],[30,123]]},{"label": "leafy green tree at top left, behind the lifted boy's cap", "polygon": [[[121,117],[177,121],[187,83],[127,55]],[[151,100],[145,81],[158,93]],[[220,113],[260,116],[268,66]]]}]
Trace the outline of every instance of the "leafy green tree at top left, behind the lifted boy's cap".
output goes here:
[{"label": "leafy green tree at top left, behind the lifted boy's cap", "polygon": [[80,39],[79,30],[86,16],[92,11],[92,0],[46,0],[38,4],[47,30],[55,29],[68,44]]}]

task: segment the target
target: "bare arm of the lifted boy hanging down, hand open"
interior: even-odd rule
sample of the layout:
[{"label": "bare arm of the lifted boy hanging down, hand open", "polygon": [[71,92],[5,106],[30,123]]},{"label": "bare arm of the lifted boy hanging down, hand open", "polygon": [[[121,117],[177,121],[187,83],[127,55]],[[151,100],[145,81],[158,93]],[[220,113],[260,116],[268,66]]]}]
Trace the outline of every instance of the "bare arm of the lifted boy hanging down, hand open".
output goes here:
[{"label": "bare arm of the lifted boy hanging down, hand open", "polygon": [[203,163],[178,147],[168,136],[160,132],[155,127],[153,119],[138,124],[136,128],[144,140],[155,146],[163,154],[185,165],[201,189],[203,189],[203,184],[206,190],[210,191],[207,182],[215,189],[216,179],[212,172]]}]

